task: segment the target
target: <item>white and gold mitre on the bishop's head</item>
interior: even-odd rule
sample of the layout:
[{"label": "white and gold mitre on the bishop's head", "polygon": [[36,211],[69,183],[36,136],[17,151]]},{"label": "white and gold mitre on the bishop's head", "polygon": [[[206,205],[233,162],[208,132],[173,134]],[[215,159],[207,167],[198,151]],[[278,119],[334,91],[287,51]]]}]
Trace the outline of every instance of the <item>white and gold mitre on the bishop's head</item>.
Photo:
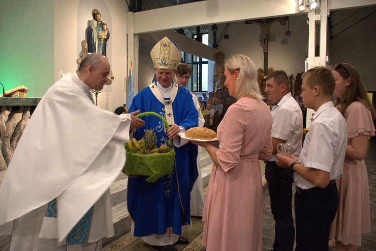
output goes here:
[{"label": "white and gold mitre on the bishop's head", "polygon": [[154,68],[176,70],[181,59],[179,47],[168,37],[162,38],[150,52]]}]

